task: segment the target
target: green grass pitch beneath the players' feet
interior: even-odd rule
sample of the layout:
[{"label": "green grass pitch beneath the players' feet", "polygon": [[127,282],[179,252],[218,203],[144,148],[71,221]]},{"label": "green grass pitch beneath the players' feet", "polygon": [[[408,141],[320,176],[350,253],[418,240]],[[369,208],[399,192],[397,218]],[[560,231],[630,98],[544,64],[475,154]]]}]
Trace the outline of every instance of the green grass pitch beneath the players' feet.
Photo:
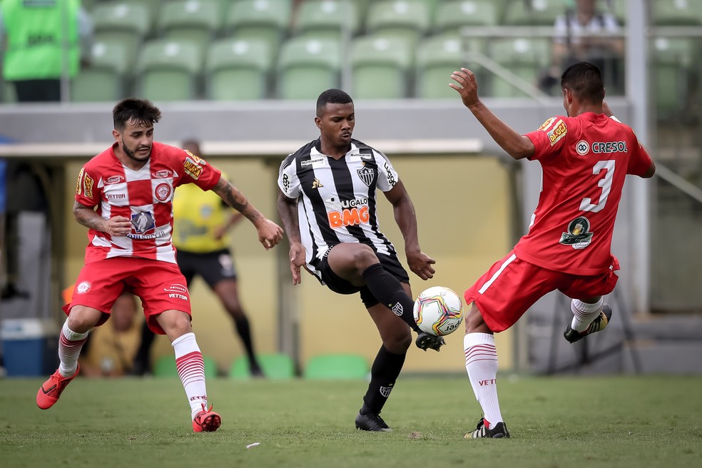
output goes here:
[{"label": "green grass pitch beneath the players' feet", "polygon": [[501,375],[497,440],[463,439],[480,417],[464,375],[400,377],[387,433],[354,428],[356,380],[209,380],[223,424],[203,434],[178,380],[79,377],[46,411],[42,381],[0,380],[3,468],[702,466],[702,377]]}]

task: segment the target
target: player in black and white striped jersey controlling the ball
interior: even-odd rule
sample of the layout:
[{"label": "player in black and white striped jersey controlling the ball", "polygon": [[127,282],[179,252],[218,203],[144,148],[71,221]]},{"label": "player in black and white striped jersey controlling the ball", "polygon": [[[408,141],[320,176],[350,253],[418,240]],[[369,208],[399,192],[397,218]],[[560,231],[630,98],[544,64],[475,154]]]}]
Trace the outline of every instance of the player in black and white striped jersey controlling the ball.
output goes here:
[{"label": "player in black and white striped jersey controlling the ball", "polygon": [[420,332],[414,322],[409,275],[378,227],[377,189],[392,204],[409,269],[427,280],[434,276],[435,261],[419,249],[414,205],[390,160],[351,138],[351,97],[338,89],[324,91],[317,99],[315,123],[320,138],[285,158],[278,175],[278,213],[290,240],[292,283],[300,283],[304,267],[334,292],[360,292],[382,347],[356,427],[390,431],[379,414],[405,363],[410,327],[423,350],[438,351],[444,340]]}]

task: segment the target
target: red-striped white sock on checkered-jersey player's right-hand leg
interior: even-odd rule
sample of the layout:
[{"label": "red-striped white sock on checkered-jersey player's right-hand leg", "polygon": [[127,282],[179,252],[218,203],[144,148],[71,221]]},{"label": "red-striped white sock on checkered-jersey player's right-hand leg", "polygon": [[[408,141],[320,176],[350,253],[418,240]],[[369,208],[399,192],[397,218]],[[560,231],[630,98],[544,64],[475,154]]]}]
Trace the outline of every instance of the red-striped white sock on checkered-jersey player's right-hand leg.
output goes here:
[{"label": "red-striped white sock on checkered-jersey player's right-hand leg", "polygon": [[195,333],[185,333],[171,343],[175,351],[175,367],[178,368],[180,382],[183,382],[185,395],[190,403],[190,417],[207,407],[207,389],[205,387],[205,363],[203,355],[195,340]]}]

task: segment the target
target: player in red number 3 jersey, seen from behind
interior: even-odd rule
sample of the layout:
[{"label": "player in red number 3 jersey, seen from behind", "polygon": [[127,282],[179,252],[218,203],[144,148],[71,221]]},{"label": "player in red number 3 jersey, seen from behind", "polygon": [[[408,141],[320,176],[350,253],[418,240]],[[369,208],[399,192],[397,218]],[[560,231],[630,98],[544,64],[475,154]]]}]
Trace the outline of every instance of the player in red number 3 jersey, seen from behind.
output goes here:
[{"label": "player in red number 3 jersey, seen from behind", "polygon": [[553,290],[571,297],[574,317],[564,337],[576,342],[606,327],[619,263],[611,254],[612,232],[624,178],[656,171],[634,131],[604,103],[599,68],[575,63],[561,76],[567,116],[549,118],[519,135],[480,101],[472,71],[461,68],[449,86],[479,123],[514,159],[541,163],[539,203],[529,232],[505,258],[465,292],[466,370],[484,417],[467,438],[509,437],[497,400],[494,333],[512,327],[531,305]]}]

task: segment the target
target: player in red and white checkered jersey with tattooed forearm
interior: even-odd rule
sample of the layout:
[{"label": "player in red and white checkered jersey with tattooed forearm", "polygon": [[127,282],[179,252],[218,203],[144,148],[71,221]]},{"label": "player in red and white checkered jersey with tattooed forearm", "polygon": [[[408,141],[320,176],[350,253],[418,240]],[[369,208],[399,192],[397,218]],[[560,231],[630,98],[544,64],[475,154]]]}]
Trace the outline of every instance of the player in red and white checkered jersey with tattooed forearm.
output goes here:
[{"label": "player in red and white checkered jersey with tattooed forearm", "polygon": [[149,327],[167,335],[190,404],[195,432],[220,427],[207,406],[200,347],[190,325],[190,295],[175,263],[173,190],[194,183],[213,190],[253,223],[268,250],[283,229],[265,218],[220,171],[197,155],[153,141],[161,111],[149,101],[128,98],[113,108],[116,142],[81,169],[73,215],[88,228],[85,265],[78,275],[59,336],[59,369],[41,385],[36,404],[48,409],[80,370],[78,355],[91,328],[110,317],[123,290],[141,298]]}]

